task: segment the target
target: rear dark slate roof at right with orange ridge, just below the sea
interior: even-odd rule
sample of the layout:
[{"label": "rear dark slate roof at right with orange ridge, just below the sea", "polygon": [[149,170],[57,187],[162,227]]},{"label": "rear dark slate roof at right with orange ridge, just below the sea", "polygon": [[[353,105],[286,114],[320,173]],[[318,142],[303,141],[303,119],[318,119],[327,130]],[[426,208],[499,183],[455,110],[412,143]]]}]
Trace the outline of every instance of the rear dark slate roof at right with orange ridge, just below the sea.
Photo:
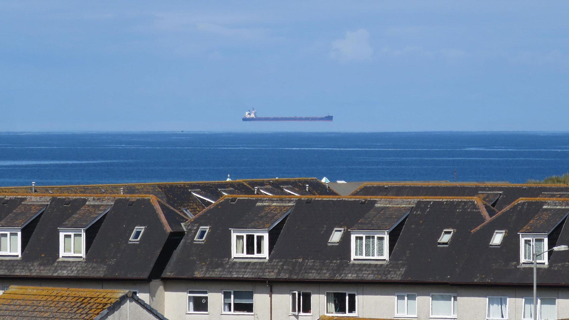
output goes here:
[{"label": "rear dark slate roof at right with orange ridge, just below the sea", "polygon": [[479,196],[498,211],[520,198],[569,198],[569,186],[512,183],[364,183],[360,196]]}]

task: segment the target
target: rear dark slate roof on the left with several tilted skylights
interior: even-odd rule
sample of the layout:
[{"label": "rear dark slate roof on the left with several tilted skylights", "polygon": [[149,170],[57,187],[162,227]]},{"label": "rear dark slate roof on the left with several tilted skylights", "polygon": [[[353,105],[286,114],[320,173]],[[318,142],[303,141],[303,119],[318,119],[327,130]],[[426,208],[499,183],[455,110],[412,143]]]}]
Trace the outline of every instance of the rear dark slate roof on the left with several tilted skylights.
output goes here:
[{"label": "rear dark slate roof on the left with several tilted skylights", "polygon": [[[308,191],[306,185],[308,184]],[[84,186],[35,186],[35,194],[83,194],[83,195],[115,195],[124,194],[154,195],[156,198],[169,204],[174,210],[183,212],[189,210],[192,215],[198,214],[211,202],[196,195],[204,195],[214,202],[225,194],[253,195],[254,187],[275,188],[275,194],[288,194],[282,186],[290,186],[297,190],[304,190],[307,195],[337,195],[335,191],[316,178],[290,178],[290,179],[244,179],[232,181],[211,182],[157,182],[157,183],[125,183],[125,184],[91,184]],[[30,194],[31,187],[0,187],[3,193]],[[225,193],[224,193],[225,192]],[[271,193],[272,194],[272,193]]]}]

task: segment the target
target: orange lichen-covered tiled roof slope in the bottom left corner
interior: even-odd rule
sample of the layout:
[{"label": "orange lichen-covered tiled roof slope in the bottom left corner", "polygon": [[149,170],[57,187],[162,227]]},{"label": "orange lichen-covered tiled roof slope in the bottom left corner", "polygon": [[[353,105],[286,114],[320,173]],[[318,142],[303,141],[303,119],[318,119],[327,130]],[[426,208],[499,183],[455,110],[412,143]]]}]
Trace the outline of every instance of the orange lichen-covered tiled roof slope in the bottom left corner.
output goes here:
[{"label": "orange lichen-covered tiled roof slope in the bottom left corner", "polygon": [[0,317],[94,319],[127,294],[127,290],[10,286],[0,295]]}]

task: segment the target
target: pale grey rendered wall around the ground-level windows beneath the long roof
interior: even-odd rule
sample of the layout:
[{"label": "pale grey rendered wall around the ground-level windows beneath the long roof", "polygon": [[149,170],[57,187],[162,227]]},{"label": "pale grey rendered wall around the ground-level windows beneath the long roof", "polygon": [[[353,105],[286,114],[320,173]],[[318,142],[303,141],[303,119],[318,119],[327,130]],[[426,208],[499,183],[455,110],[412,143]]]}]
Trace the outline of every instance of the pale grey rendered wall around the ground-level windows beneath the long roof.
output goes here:
[{"label": "pale grey rendered wall around the ground-level windows beneath the long roof", "polygon": [[[368,285],[368,284],[288,284],[273,283],[274,320],[318,319],[325,313],[326,292],[356,292],[357,317],[395,318],[395,294],[417,294],[418,320],[439,320],[430,317],[430,294],[457,294],[458,317],[465,320],[486,320],[486,297],[506,296],[509,319],[522,319],[523,297],[531,297],[531,288],[468,287],[436,285]],[[262,282],[191,282],[167,281],[164,315],[176,319],[270,319],[269,287]],[[187,290],[208,290],[208,315],[187,314]],[[253,290],[255,315],[222,315],[221,290]],[[290,292],[292,290],[312,292],[312,314],[290,315]],[[569,289],[538,289],[538,296],[557,298],[558,318],[569,318]],[[448,318],[446,318],[448,320]]]}]

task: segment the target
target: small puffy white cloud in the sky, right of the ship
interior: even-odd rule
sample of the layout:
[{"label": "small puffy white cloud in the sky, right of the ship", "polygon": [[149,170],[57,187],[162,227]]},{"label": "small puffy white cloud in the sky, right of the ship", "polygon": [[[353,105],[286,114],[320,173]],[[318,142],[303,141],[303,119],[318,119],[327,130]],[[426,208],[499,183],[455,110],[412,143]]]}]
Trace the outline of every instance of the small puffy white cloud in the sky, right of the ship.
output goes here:
[{"label": "small puffy white cloud in the sky, right of the ship", "polygon": [[347,60],[369,60],[372,58],[373,48],[369,44],[369,32],[365,29],[354,32],[347,31],[344,39],[337,39],[332,42],[332,59]]}]

